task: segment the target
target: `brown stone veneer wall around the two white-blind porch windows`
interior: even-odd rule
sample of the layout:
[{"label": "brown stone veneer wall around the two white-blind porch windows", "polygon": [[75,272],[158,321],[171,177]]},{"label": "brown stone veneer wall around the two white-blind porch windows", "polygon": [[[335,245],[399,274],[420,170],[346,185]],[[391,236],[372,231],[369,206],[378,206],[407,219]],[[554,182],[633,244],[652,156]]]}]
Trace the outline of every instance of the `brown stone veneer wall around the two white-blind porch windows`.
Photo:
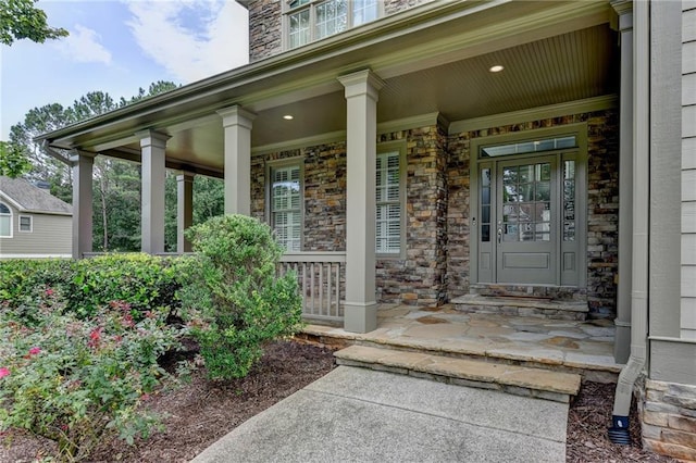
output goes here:
[{"label": "brown stone veneer wall around the two white-blind porch windows", "polygon": [[[382,302],[428,305],[446,297],[446,135],[436,126],[383,134],[378,142],[405,140],[407,149],[407,259],[377,259]],[[346,143],[344,141],[254,155],[251,214],[265,221],[269,162],[303,159],[303,251],[346,249]]]}]

